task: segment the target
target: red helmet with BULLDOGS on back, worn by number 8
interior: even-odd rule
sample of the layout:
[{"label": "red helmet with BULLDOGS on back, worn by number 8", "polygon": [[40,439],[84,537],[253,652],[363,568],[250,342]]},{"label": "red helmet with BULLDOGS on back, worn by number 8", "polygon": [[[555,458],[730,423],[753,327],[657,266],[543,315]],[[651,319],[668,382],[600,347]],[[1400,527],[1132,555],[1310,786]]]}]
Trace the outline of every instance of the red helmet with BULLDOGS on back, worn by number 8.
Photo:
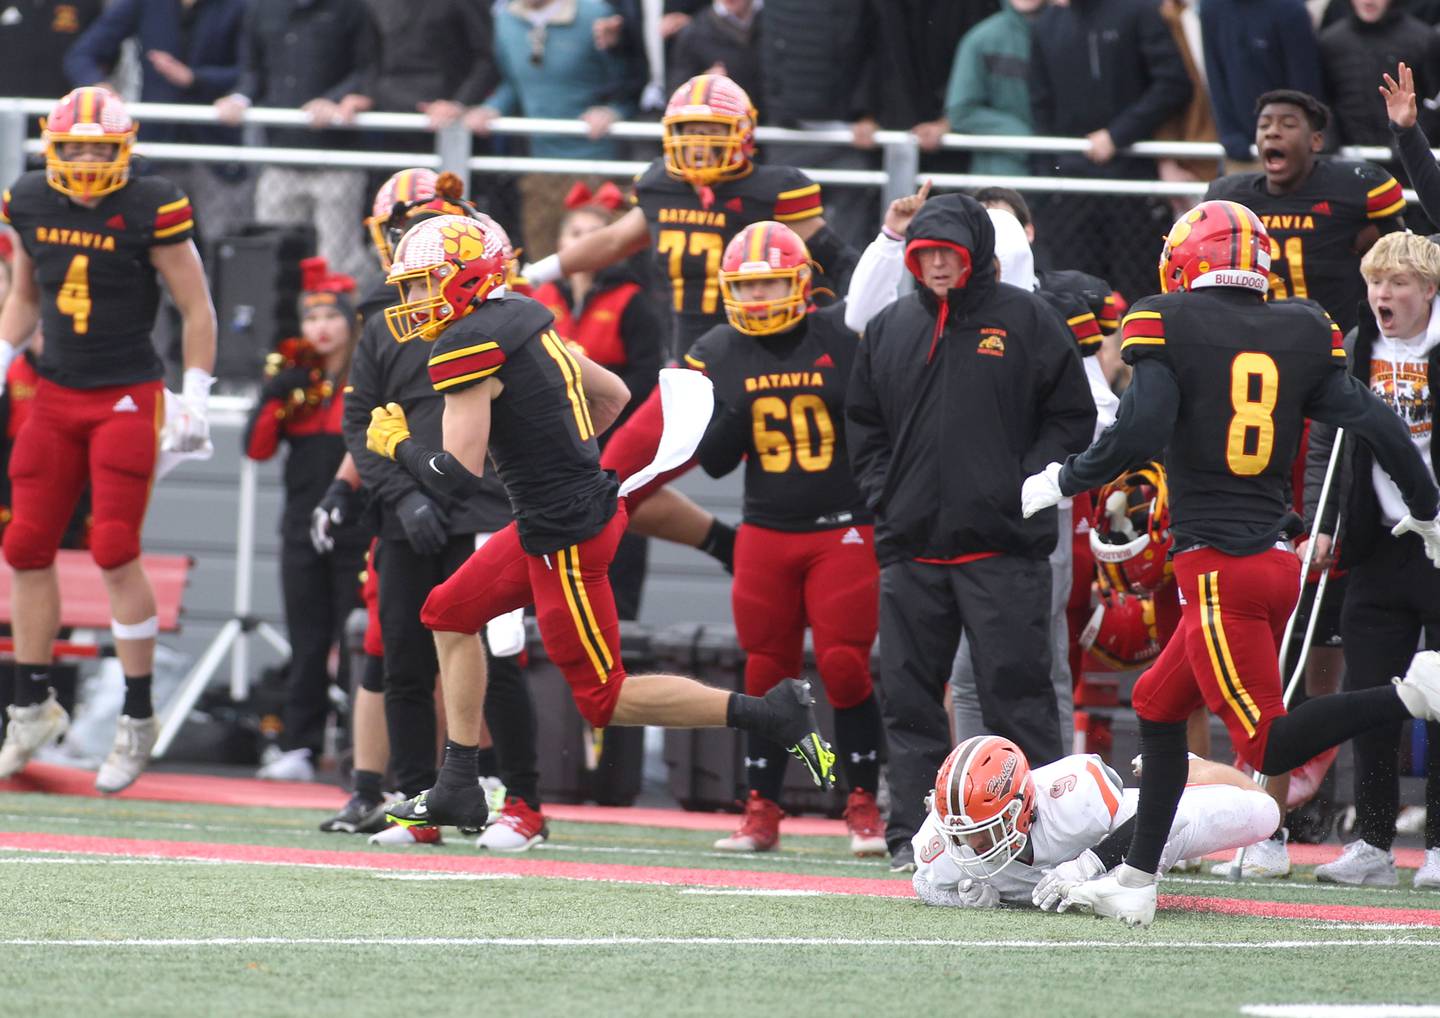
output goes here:
[{"label": "red helmet with BULLDOGS on back, worn by number 8", "polygon": [[1270,288],[1270,235],[1238,202],[1201,202],[1175,220],[1161,249],[1161,291]]}]

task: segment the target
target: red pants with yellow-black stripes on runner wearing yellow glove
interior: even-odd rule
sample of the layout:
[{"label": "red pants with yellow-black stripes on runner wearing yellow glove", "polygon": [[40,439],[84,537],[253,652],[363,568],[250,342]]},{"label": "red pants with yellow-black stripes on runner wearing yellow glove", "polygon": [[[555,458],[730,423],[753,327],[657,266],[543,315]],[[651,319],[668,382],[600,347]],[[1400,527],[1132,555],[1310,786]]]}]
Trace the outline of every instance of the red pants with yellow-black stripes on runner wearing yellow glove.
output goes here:
[{"label": "red pants with yellow-black stripes on runner wearing yellow glove", "polygon": [[600,533],[547,556],[527,554],[511,523],[431,590],[420,621],[439,632],[478,634],[492,618],[534,605],[540,639],[575,706],[603,729],[625,681],[609,567],[626,520],[622,500]]}]

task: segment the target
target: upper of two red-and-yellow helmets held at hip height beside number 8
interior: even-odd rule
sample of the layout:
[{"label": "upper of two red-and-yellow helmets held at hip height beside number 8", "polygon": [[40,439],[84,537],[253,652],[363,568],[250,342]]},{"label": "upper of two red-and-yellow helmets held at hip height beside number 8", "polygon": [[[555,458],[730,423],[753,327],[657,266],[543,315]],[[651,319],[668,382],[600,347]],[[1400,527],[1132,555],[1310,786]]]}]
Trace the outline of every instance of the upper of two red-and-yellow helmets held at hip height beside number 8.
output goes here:
[{"label": "upper of two red-and-yellow helmets held at hip height beside number 8", "polygon": [[1102,582],[1129,593],[1155,593],[1174,575],[1169,550],[1169,485],[1165,468],[1148,462],[1100,488],[1090,523],[1090,553]]}]

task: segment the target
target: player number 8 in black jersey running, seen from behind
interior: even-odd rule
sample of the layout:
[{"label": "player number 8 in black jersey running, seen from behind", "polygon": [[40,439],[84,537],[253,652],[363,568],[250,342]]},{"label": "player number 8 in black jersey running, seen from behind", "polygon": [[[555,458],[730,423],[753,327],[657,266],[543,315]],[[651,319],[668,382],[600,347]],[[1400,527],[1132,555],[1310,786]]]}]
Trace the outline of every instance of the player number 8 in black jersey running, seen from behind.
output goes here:
[{"label": "player number 8 in black jersey running, seen from behind", "polygon": [[1204,202],[1181,216],[1161,252],[1165,292],[1139,301],[1122,324],[1135,377],[1115,426],[1021,491],[1030,515],[1165,452],[1181,628],[1132,697],[1143,773],[1125,865],[1071,893],[1130,924],[1155,916],[1161,850],[1185,786],[1185,719],[1201,704],[1264,775],[1380,724],[1440,717],[1433,652],[1417,655],[1392,688],[1284,711],[1277,651],[1300,589],[1300,563],[1283,543],[1299,523],[1286,492],[1305,419],[1342,426],[1374,448],[1408,510],[1395,533],[1418,533],[1433,563],[1440,526],[1426,462],[1400,418],[1345,370],[1335,324],[1309,301],[1266,302],[1269,251],[1264,225],[1243,204]]}]

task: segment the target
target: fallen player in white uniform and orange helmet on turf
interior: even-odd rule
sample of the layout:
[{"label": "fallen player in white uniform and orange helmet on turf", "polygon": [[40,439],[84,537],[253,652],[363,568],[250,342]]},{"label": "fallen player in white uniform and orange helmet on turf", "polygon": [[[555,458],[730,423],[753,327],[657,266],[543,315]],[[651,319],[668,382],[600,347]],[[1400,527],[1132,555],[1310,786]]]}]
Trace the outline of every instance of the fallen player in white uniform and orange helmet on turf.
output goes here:
[{"label": "fallen player in white uniform and orange helmet on turf", "polygon": [[[1138,796],[1093,753],[1031,770],[1008,739],[966,739],[940,765],[930,814],[912,842],[914,891],[926,904],[1064,911],[1071,887],[1125,858]],[[1161,873],[1254,844],[1279,822],[1279,806],[1254,780],[1191,757]]]}]

